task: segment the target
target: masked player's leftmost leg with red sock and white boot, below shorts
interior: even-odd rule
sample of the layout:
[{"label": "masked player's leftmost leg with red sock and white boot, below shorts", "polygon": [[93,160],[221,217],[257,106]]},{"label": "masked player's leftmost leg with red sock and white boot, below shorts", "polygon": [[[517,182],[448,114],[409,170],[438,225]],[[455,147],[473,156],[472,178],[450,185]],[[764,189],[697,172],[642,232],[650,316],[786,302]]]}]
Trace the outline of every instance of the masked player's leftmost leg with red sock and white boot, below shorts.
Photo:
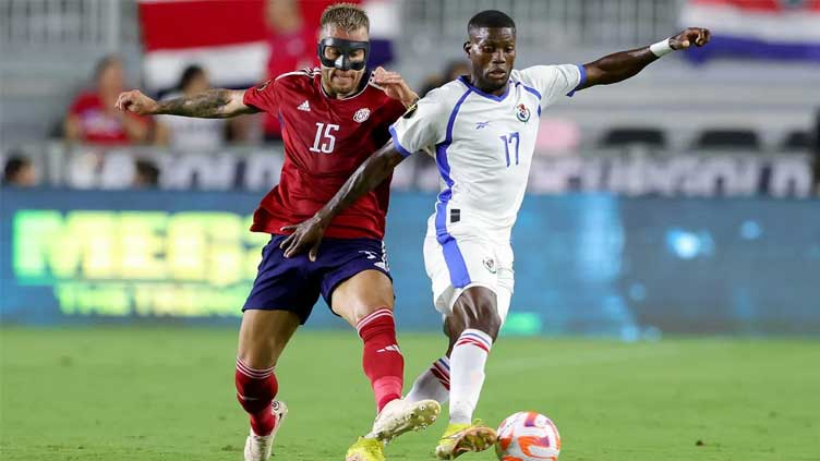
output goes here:
[{"label": "masked player's leftmost leg with red sock and white boot, below shorts", "polygon": [[279,387],[274,367],[299,325],[299,316],[286,311],[248,310],[242,314],[236,384],[237,399],[251,418],[245,461],[270,458],[274,437],[288,413],[285,403],[274,401]]}]

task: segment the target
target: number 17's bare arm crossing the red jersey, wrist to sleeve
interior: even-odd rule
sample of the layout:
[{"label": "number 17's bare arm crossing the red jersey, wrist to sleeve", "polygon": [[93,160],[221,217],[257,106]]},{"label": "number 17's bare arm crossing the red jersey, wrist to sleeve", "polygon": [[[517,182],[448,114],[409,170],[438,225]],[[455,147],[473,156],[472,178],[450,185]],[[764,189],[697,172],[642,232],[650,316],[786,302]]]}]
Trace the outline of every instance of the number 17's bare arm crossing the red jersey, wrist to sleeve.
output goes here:
[{"label": "number 17's bare arm crossing the red jersey, wrist to sleeve", "polygon": [[341,210],[389,178],[396,166],[401,163],[403,159],[405,157],[388,141],[381,149],[364,160],[330,202],[317,213],[318,218],[323,222],[329,223]]}]

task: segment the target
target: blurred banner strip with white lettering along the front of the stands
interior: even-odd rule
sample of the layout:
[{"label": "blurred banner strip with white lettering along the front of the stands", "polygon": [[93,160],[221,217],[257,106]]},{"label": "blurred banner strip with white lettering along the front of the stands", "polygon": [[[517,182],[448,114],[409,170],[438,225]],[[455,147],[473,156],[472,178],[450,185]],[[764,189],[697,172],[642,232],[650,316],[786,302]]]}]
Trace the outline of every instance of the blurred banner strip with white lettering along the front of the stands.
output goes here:
[{"label": "blurred banner strip with white lettering along the front of the stands", "polygon": [[[21,144],[0,154],[33,160],[40,184],[51,187],[122,190],[135,186],[137,161],[157,168],[159,189],[266,191],[279,180],[281,145],[226,147],[180,153],[164,148],[70,146],[61,142]],[[394,175],[394,189],[439,189],[435,161],[417,155]],[[789,196],[812,193],[812,158],[808,153],[680,150],[626,145],[569,153],[536,153],[530,174],[531,194],[612,192],[655,196]]]}]

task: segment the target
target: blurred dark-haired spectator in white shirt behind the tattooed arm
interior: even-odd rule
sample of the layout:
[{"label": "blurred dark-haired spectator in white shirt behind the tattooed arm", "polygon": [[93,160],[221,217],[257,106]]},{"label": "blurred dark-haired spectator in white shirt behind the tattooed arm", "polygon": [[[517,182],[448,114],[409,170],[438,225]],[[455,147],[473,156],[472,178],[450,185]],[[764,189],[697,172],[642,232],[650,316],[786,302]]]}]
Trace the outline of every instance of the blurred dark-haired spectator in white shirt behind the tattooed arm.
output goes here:
[{"label": "blurred dark-haired spectator in white shirt behind the tattooed arm", "polygon": [[[210,88],[208,74],[200,65],[189,65],[180,77],[178,92],[162,99],[193,96]],[[191,119],[188,117],[158,116],[154,142],[180,151],[215,150],[225,146],[229,126],[239,119]],[[234,123],[236,124],[236,123]]]}]

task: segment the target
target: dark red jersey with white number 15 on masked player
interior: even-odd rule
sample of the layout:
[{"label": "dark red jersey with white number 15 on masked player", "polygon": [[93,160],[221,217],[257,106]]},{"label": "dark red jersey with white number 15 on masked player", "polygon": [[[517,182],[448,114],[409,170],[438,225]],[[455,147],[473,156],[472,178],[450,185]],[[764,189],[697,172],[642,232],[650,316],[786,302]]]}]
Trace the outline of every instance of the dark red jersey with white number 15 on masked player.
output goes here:
[{"label": "dark red jersey with white number 15 on masked player", "polygon": [[[244,104],[277,114],[284,126],[281,179],[262,199],[251,227],[268,233],[284,233],[282,226],[298,225],[318,211],[390,138],[388,128],[405,112],[400,101],[372,84],[345,99],[328,97],[318,69],[250,88]],[[359,198],[334,218],[325,235],[383,239],[389,187],[388,179]]]}]

